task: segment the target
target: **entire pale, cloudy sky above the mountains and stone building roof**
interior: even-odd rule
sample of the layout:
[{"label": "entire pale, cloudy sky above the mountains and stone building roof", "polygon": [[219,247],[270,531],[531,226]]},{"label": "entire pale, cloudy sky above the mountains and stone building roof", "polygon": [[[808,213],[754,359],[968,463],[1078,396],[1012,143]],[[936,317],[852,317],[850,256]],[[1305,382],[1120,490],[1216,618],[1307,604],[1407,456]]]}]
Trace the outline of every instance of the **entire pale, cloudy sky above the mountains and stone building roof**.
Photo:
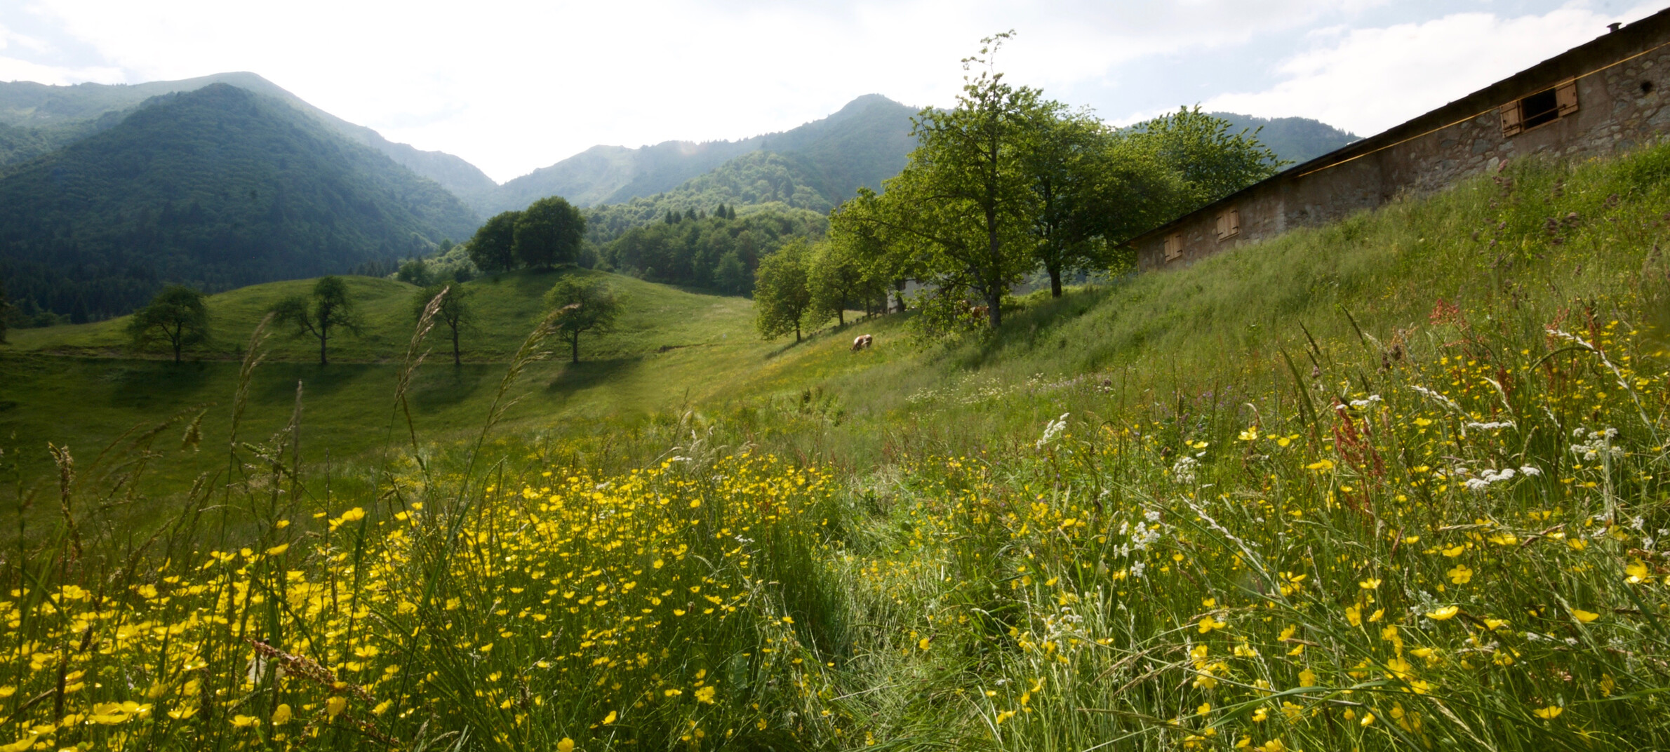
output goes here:
[{"label": "entire pale, cloudy sky above the mountains and stone building roof", "polygon": [[0,80],[252,70],[508,180],[593,144],[740,139],[862,94],[954,102],[1014,28],[1010,80],[1114,122],[1184,104],[1368,135],[1670,0],[0,0]]}]

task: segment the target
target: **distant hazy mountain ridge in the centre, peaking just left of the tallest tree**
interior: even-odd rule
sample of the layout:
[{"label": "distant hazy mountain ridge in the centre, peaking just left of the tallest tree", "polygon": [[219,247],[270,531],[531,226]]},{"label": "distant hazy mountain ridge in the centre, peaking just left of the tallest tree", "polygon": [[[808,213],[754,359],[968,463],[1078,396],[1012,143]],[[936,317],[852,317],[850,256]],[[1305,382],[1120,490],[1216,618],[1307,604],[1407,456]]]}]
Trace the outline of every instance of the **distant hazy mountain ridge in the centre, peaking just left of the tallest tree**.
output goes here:
[{"label": "distant hazy mountain ridge in the centre, peaking just left of the tallest tree", "polygon": [[576,206],[620,204],[673,191],[750,152],[797,157],[818,175],[817,191],[838,202],[860,185],[880,187],[905,167],[905,155],[915,147],[910,139],[915,114],[912,107],[867,94],[830,117],[780,134],[705,144],[668,140],[640,149],[596,145],[499,185],[476,211],[488,216],[521,209],[546,196],[563,196]]}]

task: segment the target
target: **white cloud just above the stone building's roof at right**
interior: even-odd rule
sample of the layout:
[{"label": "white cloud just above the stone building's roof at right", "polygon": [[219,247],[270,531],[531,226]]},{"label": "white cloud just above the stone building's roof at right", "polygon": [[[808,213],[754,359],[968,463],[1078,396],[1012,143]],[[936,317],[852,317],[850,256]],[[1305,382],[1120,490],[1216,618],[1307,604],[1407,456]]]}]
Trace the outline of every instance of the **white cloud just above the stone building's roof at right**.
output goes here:
[{"label": "white cloud just above the stone building's roof at right", "polygon": [[1571,3],[1518,18],[1453,13],[1384,28],[1318,30],[1311,33],[1318,47],[1281,64],[1286,80],[1211,97],[1202,109],[1314,117],[1371,135],[1608,33],[1607,23],[1657,10],[1640,5],[1612,15]]}]

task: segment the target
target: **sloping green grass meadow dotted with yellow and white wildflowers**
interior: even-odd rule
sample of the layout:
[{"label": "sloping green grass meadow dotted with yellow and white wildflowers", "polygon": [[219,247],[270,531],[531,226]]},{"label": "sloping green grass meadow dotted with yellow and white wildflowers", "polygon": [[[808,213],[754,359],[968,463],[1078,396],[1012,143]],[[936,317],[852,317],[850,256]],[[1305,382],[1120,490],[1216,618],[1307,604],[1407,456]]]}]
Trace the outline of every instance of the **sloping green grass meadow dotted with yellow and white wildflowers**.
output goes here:
[{"label": "sloping green grass meadow dotted with yellow and white wildflowers", "polygon": [[[199,451],[185,418],[17,485],[0,749],[1665,747],[1667,175],[1525,162],[858,354],[621,281],[706,344],[553,389],[528,307],[429,413],[458,371],[357,281],[364,386],[292,419],[304,349],[269,339],[204,364]],[[77,383],[139,368],[85,358],[112,333],[0,363],[94,414]],[[144,381],[147,424],[202,399]],[[319,473],[309,436],[356,428]]]}]

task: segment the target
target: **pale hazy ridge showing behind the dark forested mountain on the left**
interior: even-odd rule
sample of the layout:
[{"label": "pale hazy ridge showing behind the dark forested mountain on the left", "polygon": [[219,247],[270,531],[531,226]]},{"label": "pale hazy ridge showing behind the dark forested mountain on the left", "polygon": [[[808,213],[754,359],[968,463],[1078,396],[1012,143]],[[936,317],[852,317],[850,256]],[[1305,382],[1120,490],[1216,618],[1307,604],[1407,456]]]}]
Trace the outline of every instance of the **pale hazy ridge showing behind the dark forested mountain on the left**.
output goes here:
[{"label": "pale hazy ridge showing behind the dark forested mountain on the left", "polygon": [[[150,97],[194,92],[214,84],[230,84],[289,104],[341,135],[376,149],[406,169],[439,182],[454,196],[481,196],[498,187],[476,165],[446,152],[426,152],[407,144],[384,139],[372,129],[342,120],[324,112],[277,84],[249,72],[214,74],[184,80],[155,80],[147,84],[75,84],[67,87],[27,80],[0,82],[0,125],[23,129],[10,135],[0,129],[0,170],[7,164],[22,162],[45,154],[38,149],[10,147],[10,140],[45,140],[52,149],[78,137],[120,122],[140,102]],[[102,122],[102,125],[99,125]]]}]

